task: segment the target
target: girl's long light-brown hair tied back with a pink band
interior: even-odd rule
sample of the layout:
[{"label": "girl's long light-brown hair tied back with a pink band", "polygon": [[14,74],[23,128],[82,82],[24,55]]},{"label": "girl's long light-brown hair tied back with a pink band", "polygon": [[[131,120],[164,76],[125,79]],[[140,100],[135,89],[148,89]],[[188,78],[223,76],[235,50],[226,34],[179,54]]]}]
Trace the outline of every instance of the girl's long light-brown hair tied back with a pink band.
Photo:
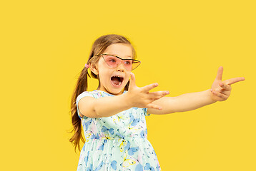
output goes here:
[{"label": "girl's long light-brown hair tied back with a pink band", "polygon": [[[114,43],[124,43],[128,44],[132,48],[132,58],[137,58],[136,52],[134,50],[134,47],[132,46],[132,43],[129,41],[128,38],[117,35],[117,34],[107,34],[104,36],[101,36],[97,38],[96,41],[94,41],[92,45],[92,50],[89,53],[89,59],[87,61],[87,64],[89,63],[97,63],[99,61],[100,56],[96,56],[99,54],[102,54],[106,48]],[[93,58],[94,57],[94,58]],[[92,71],[90,72],[90,75],[92,78],[98,79],[97,75],[95,75]],[[91,78],[91,76],[88,73],[88,70],[86,67],[84,67],[79,75],[79,78],[77,80],[76,88],[74,89],[74,93],[72,94],[72,99],[71,99],[71,116],[72,116],[72,125],[73,125],[73,130],[69,133],[72,133],[74,131],[74,135],[72,135],[72,138],[69,139],[70,142],[74,145],[74,150],[76,151],[77,147],[79,151],[80,149],[80,140],[82,142],[84,141],[83,135],[82,135],[82,122],[81,119],[78,116],[77,113],[77,96],[84,91],[87,91],[87,76]],[[98,79],[99,81],[99,79]],[[100,83],[99,83],[100,84]],[[124,87],[124,90],[128,90],[129,87],[129,81],[127,85]]]}]

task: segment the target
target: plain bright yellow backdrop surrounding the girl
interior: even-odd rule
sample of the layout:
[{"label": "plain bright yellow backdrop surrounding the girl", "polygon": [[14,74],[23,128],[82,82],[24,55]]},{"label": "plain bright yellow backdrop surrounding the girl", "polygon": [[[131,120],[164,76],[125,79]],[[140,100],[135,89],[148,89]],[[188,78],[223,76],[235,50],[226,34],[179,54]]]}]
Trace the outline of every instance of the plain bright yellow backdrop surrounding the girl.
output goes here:
[{"label": "plain bright yellow backdrop surrounding the girl", "polygon": [[[217,69],[230,98],[147,116],[163,171],[256,170],[254,1],[2,1],[0,170],[77,170],[70,98],[96,38],[127,36],[137,86],[169,96],[207,90]],[[89,90],[97,81],[89,80]]]}]

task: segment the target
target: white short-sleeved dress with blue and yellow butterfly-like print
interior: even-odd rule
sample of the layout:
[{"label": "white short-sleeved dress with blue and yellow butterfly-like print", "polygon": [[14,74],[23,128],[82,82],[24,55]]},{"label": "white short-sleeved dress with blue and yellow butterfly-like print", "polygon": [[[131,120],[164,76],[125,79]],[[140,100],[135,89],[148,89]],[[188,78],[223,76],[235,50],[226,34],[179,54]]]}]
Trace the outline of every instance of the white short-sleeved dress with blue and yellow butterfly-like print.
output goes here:
[{"label": "white short-sleeved dress with blue and yellow butterfly-like print", "polygon": [[[103,90],[84,91],[77,96],[78,113],[79,100],[85,96],[114,95]],[[79,115],[86,142],[80,152],[77,171],[161,170],[147,140],[146,115],[150,115],[147,108],[129,108],[105,118],[81,118]]]}]

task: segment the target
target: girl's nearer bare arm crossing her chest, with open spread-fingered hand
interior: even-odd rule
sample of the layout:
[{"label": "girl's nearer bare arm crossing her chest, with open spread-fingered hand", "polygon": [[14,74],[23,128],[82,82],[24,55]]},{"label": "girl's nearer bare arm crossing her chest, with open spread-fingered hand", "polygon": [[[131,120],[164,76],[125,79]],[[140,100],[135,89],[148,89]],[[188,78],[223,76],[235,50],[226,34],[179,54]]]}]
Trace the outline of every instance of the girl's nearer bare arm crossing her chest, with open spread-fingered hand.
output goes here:
[{"label": "girl's nearer bare arm crossing her chest, with open spread-fingered hand", "polygon": [[127,93],[103,98],[84,97],[79,100],[79,111],[82,115],[89,118],[103,118],[116,115],[117,113],[132,107],[161,110],[162,108],[159,105],[153,104],[152,102],[164,97],[164,95],[169,94],[169,92],[157,91],[149,93],[149,90],[157,86],[157,83],[152,83],[139,88],[135,84],[134,73],[131,73],[131,80]]}]

